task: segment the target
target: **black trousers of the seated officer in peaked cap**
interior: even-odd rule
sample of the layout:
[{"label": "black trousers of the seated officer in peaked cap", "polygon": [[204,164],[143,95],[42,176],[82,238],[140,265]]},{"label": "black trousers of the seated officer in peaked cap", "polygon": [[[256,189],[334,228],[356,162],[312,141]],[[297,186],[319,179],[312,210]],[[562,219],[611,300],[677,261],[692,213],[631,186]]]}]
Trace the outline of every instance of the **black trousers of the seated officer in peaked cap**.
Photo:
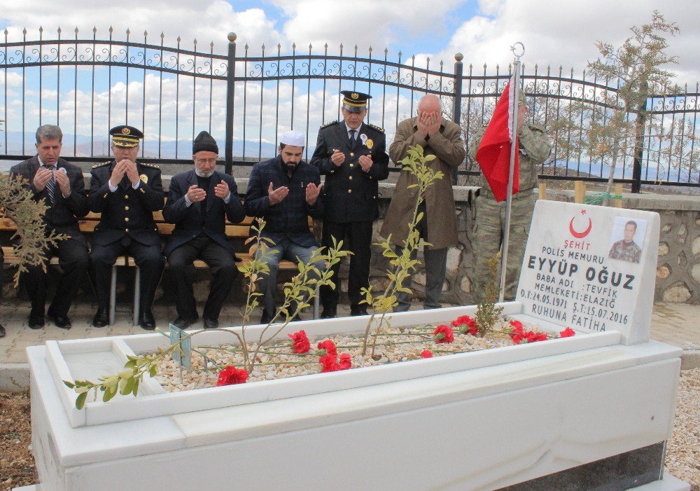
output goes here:
[{"label": "black trousers of the seated officer in peaked cap", "polygon": [[97,307],[109,308],[112,266],[117,257],[124,254],[132,256],[136,265],[141,269],[139,312],[143,313],[144,309],[150,309],[153,305],[155,290],[158,289],[160,277],[163,274],[165,257],[160,252],[159,245],[141,244],[131,237],[123,237],[122,240],[106,245],[92,244],[90,277],[97,296]]}]

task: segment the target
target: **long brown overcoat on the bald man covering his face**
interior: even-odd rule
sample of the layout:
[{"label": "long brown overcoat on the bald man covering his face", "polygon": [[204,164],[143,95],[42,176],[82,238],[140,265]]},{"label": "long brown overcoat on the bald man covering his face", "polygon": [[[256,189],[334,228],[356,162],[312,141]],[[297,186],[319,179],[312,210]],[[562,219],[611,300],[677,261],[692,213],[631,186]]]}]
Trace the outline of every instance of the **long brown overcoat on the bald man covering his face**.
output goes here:
[{"label": "long brown overcoat on the bald man covering his face", "polygon": [[[389,157],[395,165],[400,165],[398,162],[405,158],[408,147],[415,145],[422,146],[426,155],[435,155],[435,160],[428,162],[428,167],[439,170],[444,175],[426,191],[427,240],[433,249],[442,249],[458,242],[451,175],[452,168],[464,162],[464,141],[460,127],[444,118],[440,132],[428,137],[426,141],[418,132],[417,119],[410,118],[399,123],[394,141],[389,147]],[[381,226],[381,235],[388,237],[391,234],[391,242],[395,245],[403,245],[406,240],[408,223],[416,207],[418,188],[409,188],[411,184],[417,184],[416,177],[409,170],[402,170]]]}]

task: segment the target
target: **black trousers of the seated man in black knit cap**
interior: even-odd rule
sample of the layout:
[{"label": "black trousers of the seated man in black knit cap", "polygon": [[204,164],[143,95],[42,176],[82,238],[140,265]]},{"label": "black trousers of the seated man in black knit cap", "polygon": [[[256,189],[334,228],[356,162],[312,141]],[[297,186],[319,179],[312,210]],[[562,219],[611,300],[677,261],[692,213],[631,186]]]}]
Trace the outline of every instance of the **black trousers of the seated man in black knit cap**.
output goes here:
[{"label": "black trousers of the seated man in black knit cap", "polygon": [[233,286],[238,272],[233,255],[207,235],[199,235],[190,242],[173,249],[168,256],[168,264],[175,279],[177,291],[176,308],[182,319],[197,318],[197,303],[192,284],[195,282],[195,259],[201,259],[211,270],[209,297],[204,304],[204,318],[218,319],[221,306]]}]

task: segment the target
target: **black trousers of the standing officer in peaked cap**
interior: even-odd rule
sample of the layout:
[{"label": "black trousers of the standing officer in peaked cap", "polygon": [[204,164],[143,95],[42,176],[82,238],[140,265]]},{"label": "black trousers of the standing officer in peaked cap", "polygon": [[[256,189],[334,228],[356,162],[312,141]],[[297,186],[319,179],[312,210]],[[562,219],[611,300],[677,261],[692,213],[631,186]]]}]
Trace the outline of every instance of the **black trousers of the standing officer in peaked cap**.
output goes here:
[{"label": "black trousers of the standing officer in peaked cap", "polygon": [[[344,242],[344,249],[348,249],[353,253],[350,256],[350,270],[348,272],[348,297],[350,298],[350,308],[355,310],[367,305],[360,305],[360,300],[363,300],[361,289],[367,288],[370,285],[370,245],[372,243],[372,222],[371,221],[353,221],[351,223],[337,223],[332,221],[323,222],[323,235],[321,244],[323,247],[332,247],[332,237],[335,237],[336,242],[341,240]],[[340,263],[335,263],[331,268],[333,275],[332,281],[335,283],[335,290],[330,286],[321,286],[321,303],[323,310],[335,310],[338,305],[340,295],[340,281],[338,273],[340,271]]]}]

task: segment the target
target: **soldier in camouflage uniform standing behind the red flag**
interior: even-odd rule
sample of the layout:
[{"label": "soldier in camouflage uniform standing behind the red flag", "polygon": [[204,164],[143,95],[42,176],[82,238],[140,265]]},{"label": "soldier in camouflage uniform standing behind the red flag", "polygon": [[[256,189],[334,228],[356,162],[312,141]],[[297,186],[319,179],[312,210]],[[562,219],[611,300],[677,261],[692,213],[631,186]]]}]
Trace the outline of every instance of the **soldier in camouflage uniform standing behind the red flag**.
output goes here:
[{"label": "soldier in camouflage uniform standing behind the red flag", "polygon": [[[505,276],[505,300],[515,298],[518,285],[520,266],[525,254],[527,235],[530,229],[535,196],[533,188],[537,187],[537,166],[541,165],[549,153],[552,145],[545,129],[539,125],[527,123],[525,114],[527,106],[524,104],[523,92],[518,111],[518,141],[520,151],[520,181],[519,191],[513,195],[510,209],[510,238],[508,244],[508,263]],[[481,144],[486,127],[477,132],[469,145],[469,155],[476,160],[477,150]],[[491,187],[482,173],[479,176],[479,185],[482,186],[476,200],[475,223],[475,294],[478,301],[484,300],[485,279],[489,275],[489,267],[486,261],[498,253],[503,241],[505,226],[505,200],[496,202]]]}]

